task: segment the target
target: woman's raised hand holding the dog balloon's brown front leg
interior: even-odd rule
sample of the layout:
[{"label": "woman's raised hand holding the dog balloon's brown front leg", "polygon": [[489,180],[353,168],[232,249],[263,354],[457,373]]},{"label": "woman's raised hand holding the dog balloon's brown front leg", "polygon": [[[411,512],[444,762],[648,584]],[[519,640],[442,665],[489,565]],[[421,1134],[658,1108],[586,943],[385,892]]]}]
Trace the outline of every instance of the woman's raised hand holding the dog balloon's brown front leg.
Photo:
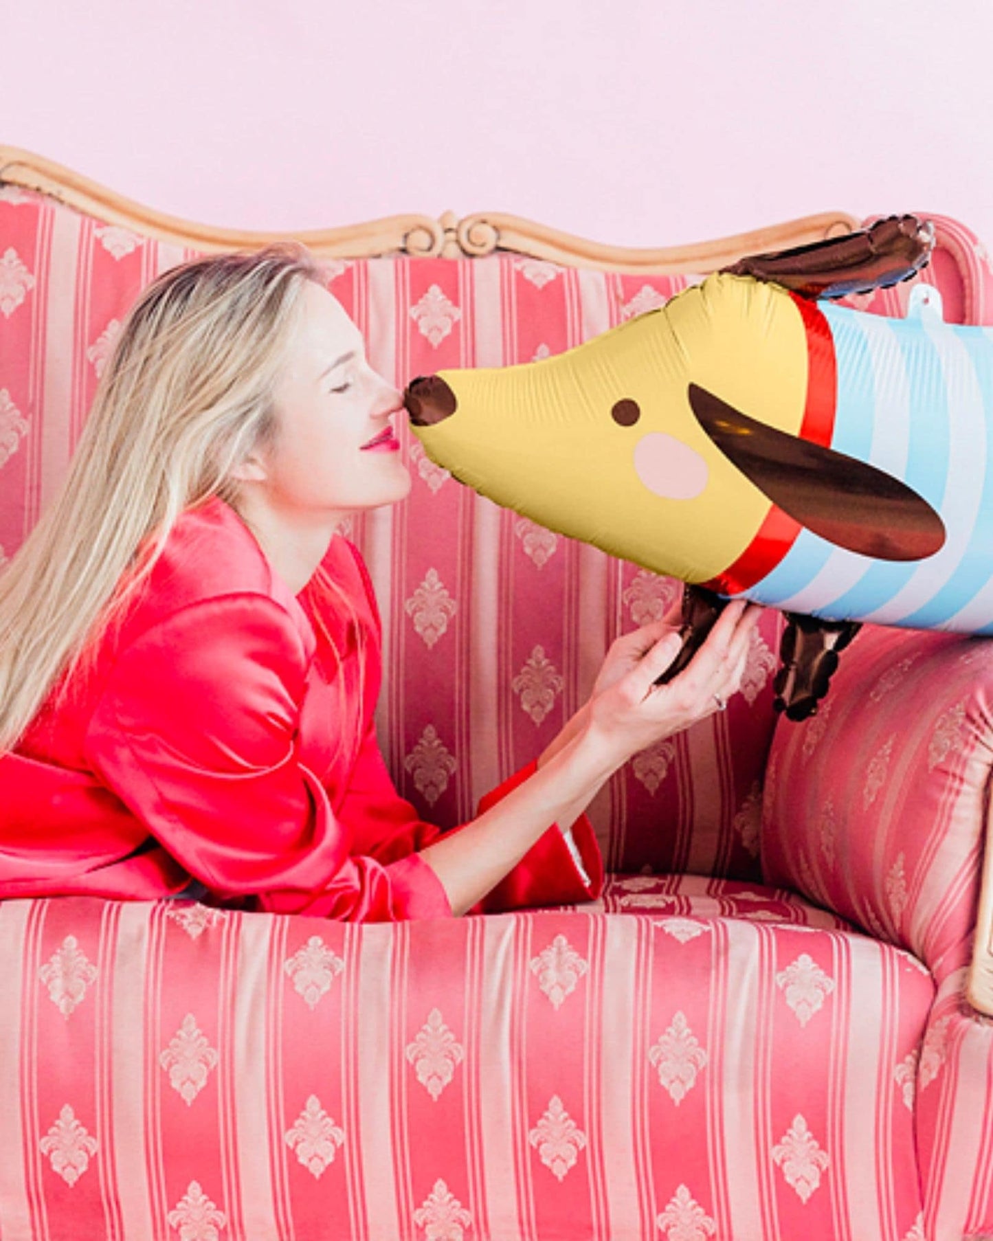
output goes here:
[{"label": "woman's raised hand holding the dog balloon's brown front leg", "polygon": [[586,730],[612,766],[721,710],[741,685],[761,611],[740,599],[729,603],[689,665],[668,685],[655,681],[681,648],[668,618],[613,643],[585,709]]}]

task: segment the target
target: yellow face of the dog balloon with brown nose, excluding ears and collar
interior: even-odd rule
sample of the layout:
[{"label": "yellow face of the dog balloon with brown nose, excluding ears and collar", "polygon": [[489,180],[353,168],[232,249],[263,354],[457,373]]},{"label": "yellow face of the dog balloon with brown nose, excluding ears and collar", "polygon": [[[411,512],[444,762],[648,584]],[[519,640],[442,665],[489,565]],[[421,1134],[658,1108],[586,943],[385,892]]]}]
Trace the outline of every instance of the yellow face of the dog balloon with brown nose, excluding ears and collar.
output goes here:
[{"label": "yellow face of the dog balloon with brown nose, excluding ears and collar", "polygon": [[540,525],[704,582],[757,532],[770,499],[694,414],[690,382],[796,436],[807,339],[783,289],[714,276],[556,357],[416,380],[425,452]]}]

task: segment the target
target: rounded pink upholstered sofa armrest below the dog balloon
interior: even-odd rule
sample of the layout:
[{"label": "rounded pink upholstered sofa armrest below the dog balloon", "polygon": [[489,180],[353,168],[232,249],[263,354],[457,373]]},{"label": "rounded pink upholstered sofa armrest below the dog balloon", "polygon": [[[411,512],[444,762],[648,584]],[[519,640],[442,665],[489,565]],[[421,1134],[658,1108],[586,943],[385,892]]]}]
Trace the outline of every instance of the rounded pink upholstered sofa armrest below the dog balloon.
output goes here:
[{"label": "rounded pink upholstered sofa armrest below the dog balloon", "polygon": [[[993,642],[864,627],[819,714],[777,725],[766,881],[947,977],[972,952],[992,766]],[[993,1008],[984,961],[973,1003]]]}]

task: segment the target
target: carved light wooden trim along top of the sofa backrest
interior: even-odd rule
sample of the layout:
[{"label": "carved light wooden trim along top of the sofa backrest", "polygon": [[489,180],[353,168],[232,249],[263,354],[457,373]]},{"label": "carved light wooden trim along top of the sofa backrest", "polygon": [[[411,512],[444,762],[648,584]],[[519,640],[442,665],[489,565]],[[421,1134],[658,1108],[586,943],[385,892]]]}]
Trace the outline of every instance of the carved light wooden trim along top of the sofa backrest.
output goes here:
[{"label": "carved light wooden trim along top of the sofa backrest", "polygon": [[4,184],[47,195],[104,223],[119,225],[158,241],[207,253],[257,249],[273,241],[300,241],[318,258],[372,258],[379,254],[465,258],[500,249],[565,267],[650,272],[658,276],[676,272],[704,276],[744,254],[803,246],[860,226],[855,216],[844,211],[828,211],[734,237],[662,249],[604,246],[520,216],[487,211],[463,218],[447,211],[437,220],[431,216],[405,215],[341,228],[253,232],[194,223],[154,211],[53,160],[16,146],[0,146],[0,185]]}]

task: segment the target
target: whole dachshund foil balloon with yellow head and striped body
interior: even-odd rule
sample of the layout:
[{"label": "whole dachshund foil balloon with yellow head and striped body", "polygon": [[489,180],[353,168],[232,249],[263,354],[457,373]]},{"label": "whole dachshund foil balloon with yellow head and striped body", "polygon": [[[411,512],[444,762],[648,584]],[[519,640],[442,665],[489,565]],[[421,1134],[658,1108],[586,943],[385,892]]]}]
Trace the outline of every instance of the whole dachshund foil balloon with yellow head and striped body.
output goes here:
[{"label": "whole dachshund foil balloon with yellow head and striped body", "polygon": [[863,620],[993,633],[993,330],[813,300],[932,244],[901,217],[744,259],[556,357],[417,379],[411,423],[498,504],[703,588],[698,644],[720,597],[784,611],[802,719]]}]

